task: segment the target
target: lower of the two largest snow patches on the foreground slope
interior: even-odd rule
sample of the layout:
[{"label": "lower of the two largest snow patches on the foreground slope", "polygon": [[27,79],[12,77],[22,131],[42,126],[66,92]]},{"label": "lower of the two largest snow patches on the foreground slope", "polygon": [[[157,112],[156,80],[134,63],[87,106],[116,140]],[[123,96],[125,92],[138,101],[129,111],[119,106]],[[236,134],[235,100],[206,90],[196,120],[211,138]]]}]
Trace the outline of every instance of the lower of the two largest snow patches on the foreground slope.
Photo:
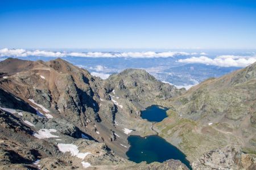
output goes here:
[{"label": "lower of the two largest snow patches on the foreground slope", "polygon": [[76,156],[77,158],[80,159],[84,159],[85,156],[91,154],[90,152],[79,153],[78,147],[73,144],[58,143],[57,146],[61,152],[71,152],[72,156]]}]

